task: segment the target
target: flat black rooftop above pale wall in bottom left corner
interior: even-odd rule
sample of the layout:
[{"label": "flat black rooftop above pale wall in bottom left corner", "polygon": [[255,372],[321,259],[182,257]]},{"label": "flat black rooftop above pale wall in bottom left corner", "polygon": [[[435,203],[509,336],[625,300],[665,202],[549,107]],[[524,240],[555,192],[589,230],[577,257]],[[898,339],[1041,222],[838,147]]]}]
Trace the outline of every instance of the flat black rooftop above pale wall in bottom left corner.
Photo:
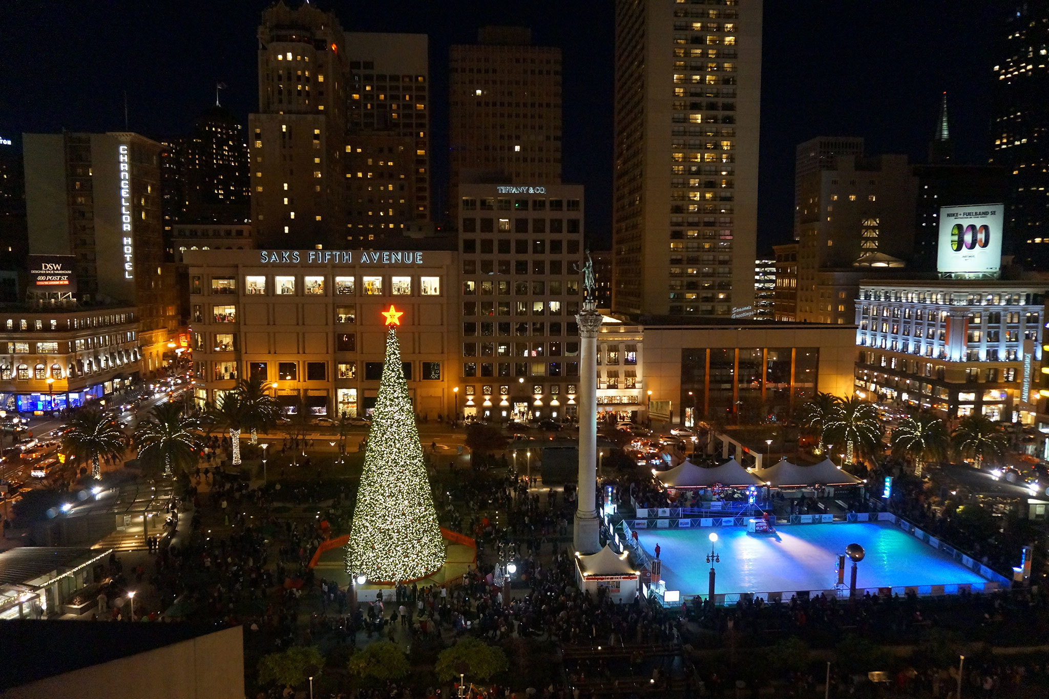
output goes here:
[{"label": "flat black rooftop above pale wall in bottom left corner", "polygon": [[138,655],[217,630],[194,624],[0,621],[0,637],[5,641],[0,691]]}]

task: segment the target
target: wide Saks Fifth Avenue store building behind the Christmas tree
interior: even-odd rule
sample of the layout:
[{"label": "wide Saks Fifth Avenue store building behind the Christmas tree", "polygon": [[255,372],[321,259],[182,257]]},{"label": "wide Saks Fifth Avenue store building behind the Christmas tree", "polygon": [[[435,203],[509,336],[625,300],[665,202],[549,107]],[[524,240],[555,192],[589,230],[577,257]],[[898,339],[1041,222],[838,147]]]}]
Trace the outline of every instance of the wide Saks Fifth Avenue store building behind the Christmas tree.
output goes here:
[{"label": "wide Saks Fifth Avenue store building behind the Christmas tree", "polygon": [[[386,327],[421,416],[454,411],[457,256],[444,250],[186,250],[194,397],[267,383],[285,412],[365,415],[379,394]],[[449,303],[449,297],[451,304]]]}]

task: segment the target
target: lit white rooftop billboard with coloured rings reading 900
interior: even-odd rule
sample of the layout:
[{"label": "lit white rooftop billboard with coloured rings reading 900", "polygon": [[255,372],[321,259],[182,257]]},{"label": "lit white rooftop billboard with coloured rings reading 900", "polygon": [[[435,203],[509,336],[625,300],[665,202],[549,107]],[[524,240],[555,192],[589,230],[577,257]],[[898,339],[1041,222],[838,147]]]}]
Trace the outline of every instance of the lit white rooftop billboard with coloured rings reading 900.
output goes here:
[{"label": "lit white rooftop billboard with coloured rings reading 900", "polygon": [[997,274],[1002,266],[1004,204],[940,207],[937,269]]}]

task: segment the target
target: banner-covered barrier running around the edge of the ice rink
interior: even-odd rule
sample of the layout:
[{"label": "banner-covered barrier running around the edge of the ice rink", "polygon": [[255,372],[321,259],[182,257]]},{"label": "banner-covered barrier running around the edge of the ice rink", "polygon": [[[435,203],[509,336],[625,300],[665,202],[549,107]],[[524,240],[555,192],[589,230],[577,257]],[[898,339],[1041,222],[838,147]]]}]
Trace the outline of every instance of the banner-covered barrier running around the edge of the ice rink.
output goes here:
[{"label": "banner-covered barrier running around the edge of the ice rink", "polygon": [[[672,510],[675,508],[662,508],[664,510]],[[657,509],[651,509],[650,511],[658,511]],[[680,511],[680,510],[679,510]],[[694,519],[677,519],[672,520],[667,518],[660,519],[644,519],[644,520],[623,520],[621,526],[623,529],[623,542],[626,547],[628,547],[637,556],[638,562],[641,565],[648,566],[655,556],[652,556],[648,551],[645,550],[641,542],[635,542],[631,537],[631,532],[635,529],[687,529],[687,528],[702,528],[702,527],[736,527],[746,526],[746,520],[749,518],[745,517],[714,517],[714,518],[694,518]],[[792,515],[789,521],[784,521],[783,518],[778,518],[776,521],[776,526],[790,525],[790,524],[833,524],[835,522],[833,515]],[[981,585],[973,585],[971,583],[957,583],[957,584],[946,584],[946,585],[901,585],[895,587],[873,587],[873,588],[856,588],[856,594],[862,596],[864,594],[871,594],[872,596],[880,595],[884,597],[890,597],[893,595],[905,595],[907,593],[916,594],[920,597],[940,597],[948,594],[960,594],[962,592],[996,592],[998,590],[1008,590],[1011,587],[1009,578],[1004,575],[991,570],[987,566],[981,564],[969,555],[966,555],[962,551],[955,549],[954,547],[947,545],[946,543],[936,539],[928,534],[928,532],[922,531],[916,527],[911,522],[907,522],[903,518],[893,515],[892,512],[848,512],[844,518],[839,518],[837,520],[839,523],[843,522],[889,522],[898,526],[903,531],[912,534],[918,541],[924,543],[926,546],[930,546],[934,549],[942,551],[950,555],[955,562],[961,564],[962,566],[968,568],[972,572],[977,573],[981,577],[987,580],[986,583]],[[642,587],[646,592],[650,592],[651,596],[660,602],[660,604],[667,604],[664,602],[664,594],[666,590],[663,587],[662,581],[659,584],[644,585]],[[757,599],[762,598],[766,603],[772,603],[777,600],[789,602],[791,597],[798,598],[809,598],[817,597],[820,594],[830,597],[845,598],[849,596],[849,590],[845,589],[828,589],[828,590],[782,590],[774,592],[735,592],[735,593],[724,593],[714,594],[714,604],[718,606],[734,605],[741,599]],[[704,595],[681,595],[680,599],[675,599],[675,602],[688,602],[689,599],[694,599],[695,597],[706,598]]]}]

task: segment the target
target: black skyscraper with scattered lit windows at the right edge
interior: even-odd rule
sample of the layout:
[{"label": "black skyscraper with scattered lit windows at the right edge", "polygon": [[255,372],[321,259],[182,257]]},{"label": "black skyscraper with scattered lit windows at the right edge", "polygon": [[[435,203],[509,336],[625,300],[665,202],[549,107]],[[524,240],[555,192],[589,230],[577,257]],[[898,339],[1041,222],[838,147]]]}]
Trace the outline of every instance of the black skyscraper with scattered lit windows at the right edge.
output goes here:
[{"label": "black skyscraper with scattered lit windows at the right edge", "polygon": [[[1009,177],[1006,231],[1016,261],[1049,268],[1049,2],[1004,3],[991,124],[990,161]],[[1008,250],[1007,250],[1008,252]]]}]

